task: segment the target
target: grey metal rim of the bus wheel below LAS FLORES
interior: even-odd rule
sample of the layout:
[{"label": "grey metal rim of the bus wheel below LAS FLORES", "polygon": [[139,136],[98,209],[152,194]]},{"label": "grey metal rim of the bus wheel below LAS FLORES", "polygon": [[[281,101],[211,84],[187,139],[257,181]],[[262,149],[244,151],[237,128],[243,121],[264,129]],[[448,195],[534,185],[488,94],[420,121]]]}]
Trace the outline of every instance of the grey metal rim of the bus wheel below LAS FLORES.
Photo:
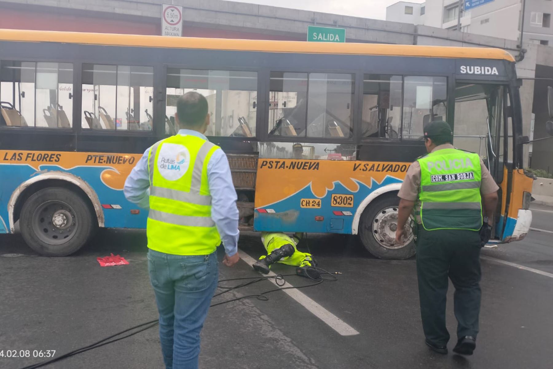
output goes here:
[{"label": "grey metal rim of the bus wheel below LAS FLORES", "polygon": [[32,218],[36,236],[49,245],[61,245],[75,236],[79,221],[66,202],[46,201],[36,208]]}]

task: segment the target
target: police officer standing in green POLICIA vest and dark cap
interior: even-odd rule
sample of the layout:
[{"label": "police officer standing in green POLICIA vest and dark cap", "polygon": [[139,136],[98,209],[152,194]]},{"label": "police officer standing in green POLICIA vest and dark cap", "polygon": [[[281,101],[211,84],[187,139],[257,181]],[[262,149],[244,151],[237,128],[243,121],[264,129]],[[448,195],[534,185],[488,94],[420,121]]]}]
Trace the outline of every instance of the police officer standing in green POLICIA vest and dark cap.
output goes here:
[{"label": "police officer standing in green POLICIA vest and dark cap", "polygon": [[[480,250],[491,235],[497,190],[478,154],[456,149],[446,122],[424,129],[427,155],[407,171],[401,198],[396,241],[415,209],[416,267],[422,329],[430,349],[447,354],[447,277],[455,287],[457,344],[453,351],[472,355],[480,311]],[[483,209],[482,209],[483,205]]]}]

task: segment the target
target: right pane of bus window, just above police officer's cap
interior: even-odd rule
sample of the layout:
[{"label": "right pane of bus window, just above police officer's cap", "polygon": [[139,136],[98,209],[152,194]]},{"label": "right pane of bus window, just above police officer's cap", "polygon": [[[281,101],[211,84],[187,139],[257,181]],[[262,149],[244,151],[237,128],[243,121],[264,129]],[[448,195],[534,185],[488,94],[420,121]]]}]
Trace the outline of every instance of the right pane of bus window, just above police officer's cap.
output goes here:
[{"label": "right pane of bus window, just above police officer's cap", "polygon": [[447,116],[447,78],[405,76],[403,93],[404,139],[421,140],[425,124],[445,121]]}]

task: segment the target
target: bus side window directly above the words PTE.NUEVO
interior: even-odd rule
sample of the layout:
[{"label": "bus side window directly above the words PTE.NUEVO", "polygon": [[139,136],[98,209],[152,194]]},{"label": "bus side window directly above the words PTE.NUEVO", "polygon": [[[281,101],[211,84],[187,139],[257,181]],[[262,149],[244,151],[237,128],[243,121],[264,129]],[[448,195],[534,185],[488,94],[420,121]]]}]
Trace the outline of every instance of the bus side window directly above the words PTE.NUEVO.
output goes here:
[{"label": "bus side window directly above the words PTE.NUEVO", "polygon": [[152,131],[151,66],[82,65],[82,128]]}]

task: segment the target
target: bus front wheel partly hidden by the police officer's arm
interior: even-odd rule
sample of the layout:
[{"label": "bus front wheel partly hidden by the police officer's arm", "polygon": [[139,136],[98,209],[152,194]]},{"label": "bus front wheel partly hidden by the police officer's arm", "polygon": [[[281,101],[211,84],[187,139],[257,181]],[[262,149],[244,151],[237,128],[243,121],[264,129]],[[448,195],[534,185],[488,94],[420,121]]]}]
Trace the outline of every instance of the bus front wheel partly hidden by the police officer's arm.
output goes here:
[{"label": "bus front wheel partly hidden by the police officer's arm", "polygon": [[395,245],[399,198],[380,196],[372,201],[359,219],[359,237],[368,252],[380,259],[403,260],[415,254],[413,233],[406,242]]}]

